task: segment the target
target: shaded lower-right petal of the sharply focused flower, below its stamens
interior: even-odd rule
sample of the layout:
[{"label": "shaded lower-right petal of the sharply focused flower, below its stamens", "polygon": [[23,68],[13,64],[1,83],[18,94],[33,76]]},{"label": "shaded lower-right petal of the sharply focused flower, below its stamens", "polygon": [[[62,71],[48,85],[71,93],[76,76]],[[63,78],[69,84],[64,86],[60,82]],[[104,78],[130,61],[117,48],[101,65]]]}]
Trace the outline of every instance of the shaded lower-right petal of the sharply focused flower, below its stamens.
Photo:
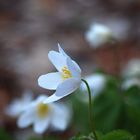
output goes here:
[{"label": "shaded lower-right petal of the sharply focused flower, below its stamens", "polygon": [[54,94],[58,97],[64,97],[74,92],[80,86],[80,83],[81,79],[69,78],[57,87]]}]

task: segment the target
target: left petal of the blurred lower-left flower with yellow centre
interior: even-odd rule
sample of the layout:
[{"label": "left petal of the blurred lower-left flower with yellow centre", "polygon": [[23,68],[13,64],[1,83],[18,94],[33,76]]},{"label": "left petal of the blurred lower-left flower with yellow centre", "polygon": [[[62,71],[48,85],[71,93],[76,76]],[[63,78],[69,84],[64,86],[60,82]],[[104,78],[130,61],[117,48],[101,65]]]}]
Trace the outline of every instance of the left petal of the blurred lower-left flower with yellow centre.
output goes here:
[{"label": "left petal of the blurred lower-left flower with yellow centre", "polygon": [[34,116],[35,116],[35,112],[33,109],[30,109],[25,113],[23,113],[17,121],[18,127],[25,128],[31,125],[34,121]]}]

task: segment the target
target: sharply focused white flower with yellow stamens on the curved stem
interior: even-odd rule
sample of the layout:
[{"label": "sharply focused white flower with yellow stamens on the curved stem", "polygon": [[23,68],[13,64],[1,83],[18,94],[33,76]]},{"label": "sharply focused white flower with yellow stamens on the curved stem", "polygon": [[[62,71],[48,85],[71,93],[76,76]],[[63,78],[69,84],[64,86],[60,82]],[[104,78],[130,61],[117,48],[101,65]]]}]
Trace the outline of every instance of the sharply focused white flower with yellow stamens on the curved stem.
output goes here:
[{"label": "sharply focused white flower with yellow stamens on the curved stem", "polygon": [[58,72],[42,75],[38,79],[39,86],[56,90],[44,103],[57,101],[74,92],[81,84],[81,69],[58,44],[59,52],[50,51],[48,57]]}]

